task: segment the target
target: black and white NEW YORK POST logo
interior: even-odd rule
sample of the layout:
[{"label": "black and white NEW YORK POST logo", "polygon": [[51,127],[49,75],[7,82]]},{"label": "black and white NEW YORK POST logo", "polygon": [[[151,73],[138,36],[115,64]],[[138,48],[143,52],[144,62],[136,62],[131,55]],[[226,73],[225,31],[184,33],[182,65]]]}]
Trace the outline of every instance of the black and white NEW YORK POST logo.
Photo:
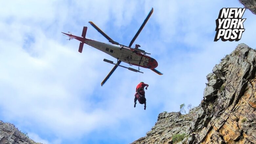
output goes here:
[{"label": "black and white NEW YORK POST logo", "polygon": [[245,31],[242,16],[245,8],[223,8],[220,10],[218,19],[216,20],[216,35],[214,42],[219,39],[222,41],[239,41],[242,33]]}]

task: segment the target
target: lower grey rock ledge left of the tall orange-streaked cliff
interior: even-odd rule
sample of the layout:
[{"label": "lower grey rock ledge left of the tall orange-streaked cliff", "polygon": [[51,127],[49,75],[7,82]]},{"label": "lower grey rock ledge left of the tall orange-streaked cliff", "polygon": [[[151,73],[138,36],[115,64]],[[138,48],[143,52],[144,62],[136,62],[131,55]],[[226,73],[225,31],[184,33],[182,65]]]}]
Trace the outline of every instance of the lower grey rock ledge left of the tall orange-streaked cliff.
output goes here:
[{"label": "lower grey rock ledge left of the tall orange-streaked cliff", "polygon": [[147,136],[136,140],[132,144],[169,144],[172,143],[174,135],[188,135],[189,125],[198,108],[193,108],[187,115],[181,115],[180,112],[160,113],[155,126],[146,134]]}]

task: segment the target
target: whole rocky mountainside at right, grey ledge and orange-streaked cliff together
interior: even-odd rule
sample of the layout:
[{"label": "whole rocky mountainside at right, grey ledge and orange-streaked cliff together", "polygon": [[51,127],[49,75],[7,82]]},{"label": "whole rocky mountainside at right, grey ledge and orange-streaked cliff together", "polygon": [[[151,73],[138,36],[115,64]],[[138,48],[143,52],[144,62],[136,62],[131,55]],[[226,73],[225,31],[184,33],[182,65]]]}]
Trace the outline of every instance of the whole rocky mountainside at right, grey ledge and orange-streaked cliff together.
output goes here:
[{"label": "whole rocky mountainside at right, grey ledge and orange-streaked cliff together", "polygon": [[156,125],[132,144],[256,144],[256,50],[245,44],[206,76],[201,104],[189,114],[160,113]]}]

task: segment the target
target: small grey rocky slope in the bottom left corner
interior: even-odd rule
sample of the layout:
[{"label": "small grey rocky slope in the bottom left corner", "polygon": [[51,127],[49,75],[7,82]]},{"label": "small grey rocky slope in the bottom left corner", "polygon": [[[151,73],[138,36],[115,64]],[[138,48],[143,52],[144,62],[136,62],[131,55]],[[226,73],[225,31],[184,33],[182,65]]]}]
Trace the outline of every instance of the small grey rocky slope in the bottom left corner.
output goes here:
[{"label": "small grey rocky slope in the bottom left corner", "polygon": [[0,120],[0,144],[42,144],[36,143],[21,133],[13,124]]}]

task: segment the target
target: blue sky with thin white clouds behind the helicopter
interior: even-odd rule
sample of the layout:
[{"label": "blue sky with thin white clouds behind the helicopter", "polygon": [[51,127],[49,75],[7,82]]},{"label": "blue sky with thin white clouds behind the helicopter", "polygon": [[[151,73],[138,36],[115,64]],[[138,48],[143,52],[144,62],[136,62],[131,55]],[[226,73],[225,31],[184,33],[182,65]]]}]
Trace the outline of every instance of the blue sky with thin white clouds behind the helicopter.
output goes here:
[{"label": "blue sky with thin white clouds behind the helicopter", "polygon": [[[238,0],[0,0],[0,120],[13,123],[45,144],[123,144],[146,135],[158,114],[198,106],[206,75],[240,43],[256,48],[256,15],[245,10],[245,32],[238,42],[214,42],[222,8],[243,8]],[[159,76],[118,67],[113,57],[61,32],[129,45],[147,14],[154,12],[135,44],[158,61]],[[125,66],[129,66],[123,63]],[[133,66],[133,68],[137,68]],[[140,81],[147,109],[133,107]]]}]

